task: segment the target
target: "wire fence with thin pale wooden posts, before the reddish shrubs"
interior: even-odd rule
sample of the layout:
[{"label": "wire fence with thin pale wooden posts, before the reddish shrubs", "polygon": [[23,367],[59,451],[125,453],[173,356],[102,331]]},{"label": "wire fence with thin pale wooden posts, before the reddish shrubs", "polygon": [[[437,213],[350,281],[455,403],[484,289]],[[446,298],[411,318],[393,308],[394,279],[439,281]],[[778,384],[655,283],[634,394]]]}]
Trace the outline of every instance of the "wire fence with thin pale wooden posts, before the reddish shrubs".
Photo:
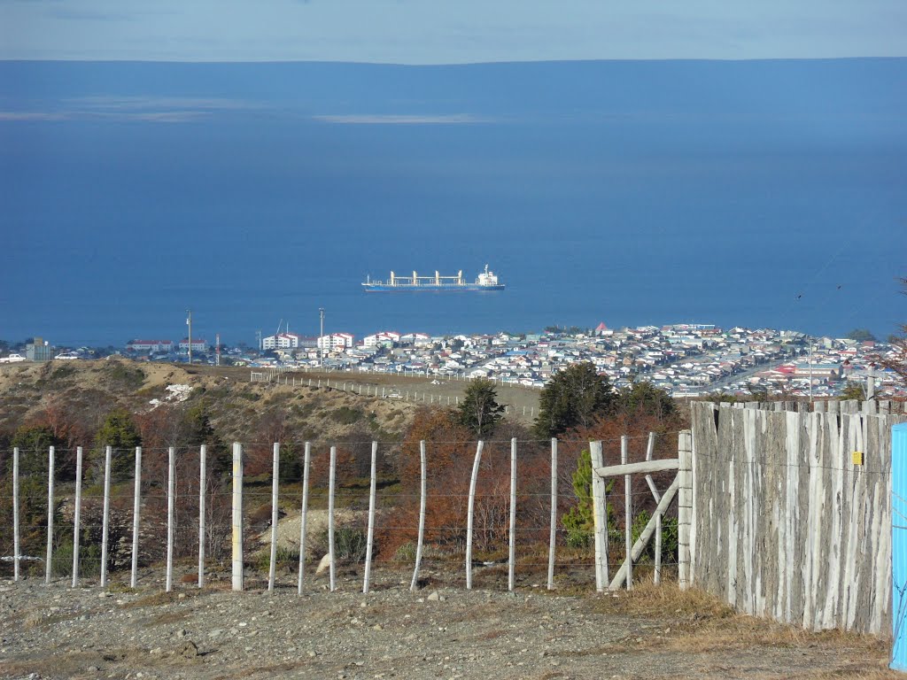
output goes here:
[{"label": "wire fence with thin pale wooden posts, before the reddish shrubs", "polygon": [[[641,438],[625,441],[631,439]],[[583,486],[589,471],[581,477],[590,442],[544,442],[550,451],[541,443],[482,442],[472,484],[476,442],[423,443],[428,464],[421,475],[418,456],[399,442],[346,442],[343,449],[327,442],[235,445],[244,477],[242,567],[270,572],[272,588],[292,580],[291,567],[302,574],[326,555],[366,573],[373,564],[398,571],[414,562],[417,572],[421,562],[428,569],[459,564],[467,582],[473,567],[495,573],[502,565],[542,580],[547,568],[549,588],[561,575],[592,580],[594,522]],[[356,452],[366,445],[371,461]],[[268,449],[277,453],[265,467],[258,459]],[[73,457],[76,469],[68,464]],[[136,459],[138,477],[129,473]],[[141,578],[160,578],[166,560],[168,588],[174,563],[200,584],[206,576],[224,578],[234,567],[236,533],[236,474],[228,459],[216,447],[0,452],[0,573],[24,578],[43,572],[45,580],[71,577],[75,586],[98,578],[104,584],[108,573],[131,570],[136,585],[139,568]],[[669,481],[658,483],[663,490]],[[626,551],[625,498],[634,539],[655,505],[641,479],[629,496],[611,492],[605,559],[612,569]],[[666,533],[657,561],[674,568],[676,520],[668,519]],[[649,549],[639,561],[656,560]]]}]

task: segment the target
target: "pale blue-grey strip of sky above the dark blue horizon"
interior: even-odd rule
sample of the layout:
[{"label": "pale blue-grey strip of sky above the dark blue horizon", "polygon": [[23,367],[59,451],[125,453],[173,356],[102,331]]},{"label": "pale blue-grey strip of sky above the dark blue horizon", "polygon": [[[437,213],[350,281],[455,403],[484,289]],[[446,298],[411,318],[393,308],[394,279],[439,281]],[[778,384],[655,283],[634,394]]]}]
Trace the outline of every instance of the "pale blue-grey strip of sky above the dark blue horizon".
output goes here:
[{"label": "pale blue-grey strip of sky above the dark blue horizon", "polygon": [[0,59],[907,56],[904,0],[0,0]]}]

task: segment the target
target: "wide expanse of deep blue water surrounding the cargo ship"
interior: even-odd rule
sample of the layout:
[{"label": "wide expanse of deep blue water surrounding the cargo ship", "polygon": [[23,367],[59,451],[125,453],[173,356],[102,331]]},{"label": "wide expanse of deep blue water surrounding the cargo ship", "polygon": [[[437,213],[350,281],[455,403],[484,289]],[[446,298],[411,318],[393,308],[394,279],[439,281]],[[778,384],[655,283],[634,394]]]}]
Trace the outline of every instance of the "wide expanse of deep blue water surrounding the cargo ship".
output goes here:
[{"label": "wide expanse of deep blue water surrounding the cargo ship", "polygon": [[[194,335],[253,344],[316,334],[319,307],[355,335],[884,337],[907,320],[904,111],[903,59],[0,63],[0,338],[176,339],[191,308]],[[359,286],[486,263],[505,292]]]}]

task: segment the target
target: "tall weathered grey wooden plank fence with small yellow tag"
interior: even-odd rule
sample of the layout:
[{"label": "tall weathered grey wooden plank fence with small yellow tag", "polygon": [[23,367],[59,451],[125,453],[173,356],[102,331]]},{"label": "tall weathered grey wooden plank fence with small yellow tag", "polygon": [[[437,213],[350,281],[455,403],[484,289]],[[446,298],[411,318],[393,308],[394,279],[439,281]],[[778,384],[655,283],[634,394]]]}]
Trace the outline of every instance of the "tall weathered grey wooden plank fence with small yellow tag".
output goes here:
[{"label": "tall weathered grey wooden plank fence with small yellow tag", "polygon": [[887,633],[891,432],[907,417],[808,406],[691,404],[689,580],[748,614]]}]

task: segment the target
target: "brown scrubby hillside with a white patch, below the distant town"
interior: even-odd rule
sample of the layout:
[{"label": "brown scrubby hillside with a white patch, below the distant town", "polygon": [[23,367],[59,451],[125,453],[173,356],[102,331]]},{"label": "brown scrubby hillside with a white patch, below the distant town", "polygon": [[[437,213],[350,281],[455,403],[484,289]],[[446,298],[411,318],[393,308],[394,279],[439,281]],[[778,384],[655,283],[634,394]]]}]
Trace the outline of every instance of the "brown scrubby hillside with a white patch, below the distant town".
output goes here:
[{"label": "brown scrubby hillside with a white patch, below the distant town", "polygon": [[160,419],[152,412],[182,412],[202,404],[223,442],[260,437],[275,423],[295,440],[327,442],[351,434],[396,440],[415,410],[414,403],[327,387],[249,383],[245,368],[124,359],[0,368],[0,437],[6,440],[23,424],[60,423],[69,443],[89,446],[115,408]]}]

